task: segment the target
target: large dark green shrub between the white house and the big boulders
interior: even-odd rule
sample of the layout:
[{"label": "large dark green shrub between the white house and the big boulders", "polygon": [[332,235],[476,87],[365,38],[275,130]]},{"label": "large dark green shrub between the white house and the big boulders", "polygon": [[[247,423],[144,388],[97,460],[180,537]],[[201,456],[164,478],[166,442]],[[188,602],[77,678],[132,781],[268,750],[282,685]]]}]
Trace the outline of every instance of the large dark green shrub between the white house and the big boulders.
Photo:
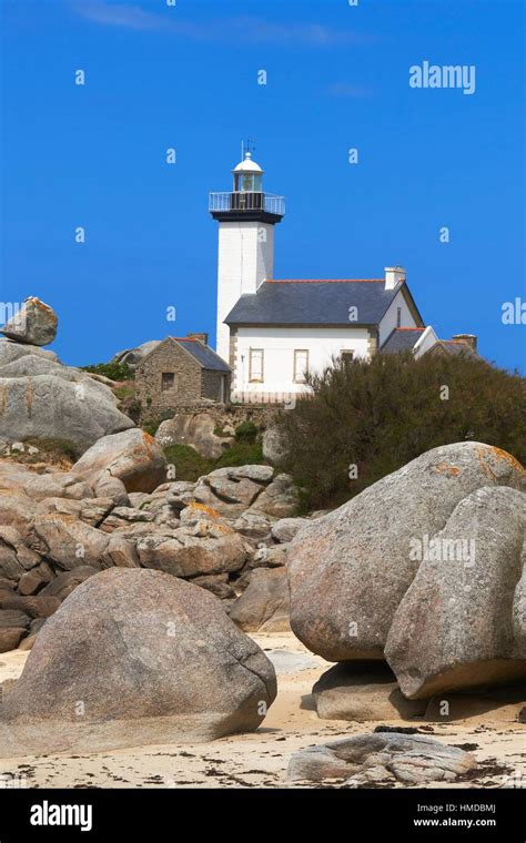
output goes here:
[{"label": "large dark green shrub between the white house and the big boulders", "polygon": [[308,383],[312,397],[276,424],[287,444],[281,468],[311,508],[342,504],[438,445],[473,439],[524,461],[524,378],[484,360],[376,355],[335,360]]}]

